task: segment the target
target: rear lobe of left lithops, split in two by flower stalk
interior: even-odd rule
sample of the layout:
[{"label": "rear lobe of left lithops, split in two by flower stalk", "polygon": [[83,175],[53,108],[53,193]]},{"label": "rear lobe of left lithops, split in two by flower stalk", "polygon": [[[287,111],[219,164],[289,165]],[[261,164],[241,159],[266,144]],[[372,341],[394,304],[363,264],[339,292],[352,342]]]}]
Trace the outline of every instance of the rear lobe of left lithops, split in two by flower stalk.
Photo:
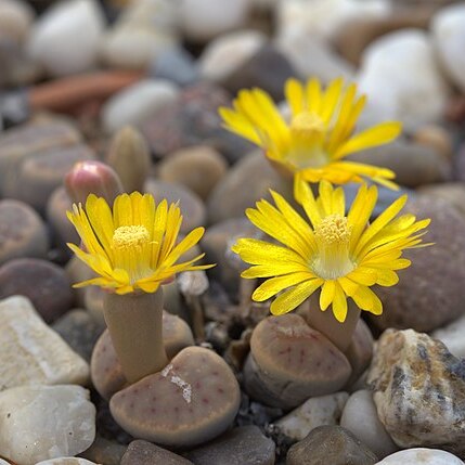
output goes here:
[{"label": "rear lobe of left lithops, split in two by flower stalk", "polygon": [[[163,312],[163,341],[169,360],[183,348],[194,345],[188,323],[166,311]],[[95,389],[107,400],[128,384],[108,330],[104,331],[96,341],[90,366]]]}]

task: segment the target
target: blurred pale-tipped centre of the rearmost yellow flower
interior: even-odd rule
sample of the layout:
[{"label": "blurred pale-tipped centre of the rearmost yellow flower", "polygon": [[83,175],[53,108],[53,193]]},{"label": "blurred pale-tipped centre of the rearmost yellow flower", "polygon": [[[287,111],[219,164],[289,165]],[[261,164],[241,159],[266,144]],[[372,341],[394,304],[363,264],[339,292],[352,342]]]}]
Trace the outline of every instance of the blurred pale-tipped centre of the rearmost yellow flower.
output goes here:
[{"label": "blurred pale-tipped centre of the rearmost yellow flower", "polygon": [[326,127],[313,112],[302,112],[290,121],[290,147],[287,155],[297,169],[319,168],[327,164],[323,147]]}]

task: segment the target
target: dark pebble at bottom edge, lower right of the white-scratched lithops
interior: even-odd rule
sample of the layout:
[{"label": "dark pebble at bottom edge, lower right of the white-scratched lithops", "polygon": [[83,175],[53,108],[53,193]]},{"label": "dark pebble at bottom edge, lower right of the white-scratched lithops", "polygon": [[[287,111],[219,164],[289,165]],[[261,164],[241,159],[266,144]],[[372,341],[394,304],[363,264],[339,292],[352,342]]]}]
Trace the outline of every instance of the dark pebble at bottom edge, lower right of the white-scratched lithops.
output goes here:
[{"label": "dark pebble at bottom edge, lower right of the white-scratched lithops", "polygon": [[274,465],[274,442],[254,425],[234,428],[185,456],[195,465]]}]

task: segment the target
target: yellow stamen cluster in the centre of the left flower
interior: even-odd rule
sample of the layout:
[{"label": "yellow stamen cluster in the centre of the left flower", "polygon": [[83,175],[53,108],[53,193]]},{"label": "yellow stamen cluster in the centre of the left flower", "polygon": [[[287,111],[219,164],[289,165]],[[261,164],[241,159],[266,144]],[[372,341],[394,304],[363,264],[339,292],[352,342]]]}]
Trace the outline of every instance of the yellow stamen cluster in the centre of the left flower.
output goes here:
[{"label": "yellow stamen cluster in the centre of the left flower", "polygon": [[113,233],[112,246],[115,268],[125,270],[131,284],[152,274],[152,242],[145,227],[119,227]]}]

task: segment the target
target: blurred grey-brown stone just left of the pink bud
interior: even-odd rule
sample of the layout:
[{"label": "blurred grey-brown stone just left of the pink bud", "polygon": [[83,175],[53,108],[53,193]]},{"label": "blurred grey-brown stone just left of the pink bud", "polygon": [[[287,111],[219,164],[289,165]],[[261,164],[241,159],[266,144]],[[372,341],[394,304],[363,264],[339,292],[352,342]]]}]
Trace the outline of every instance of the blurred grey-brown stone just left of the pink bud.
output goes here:
[{"label": "blurred grey-brown stone just left of the pink bud", "polygon": [[49,197],[63,184],[63,178],[73,166],[93,158],[93,151],[85,144],[37,152],[11,165],[3,194],[44,212]]}]

